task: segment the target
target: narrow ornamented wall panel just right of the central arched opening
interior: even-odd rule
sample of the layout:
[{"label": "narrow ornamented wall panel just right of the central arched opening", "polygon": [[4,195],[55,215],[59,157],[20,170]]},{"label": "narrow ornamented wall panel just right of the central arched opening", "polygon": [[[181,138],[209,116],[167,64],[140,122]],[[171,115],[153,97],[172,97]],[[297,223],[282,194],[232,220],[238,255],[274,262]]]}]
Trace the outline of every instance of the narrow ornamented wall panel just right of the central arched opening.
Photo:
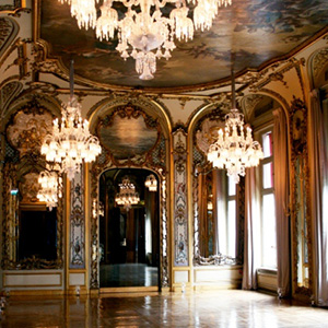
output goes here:
[{"label": "narrow ornamented wall panel just right of the central arched opening", "polygon": [[173,133],[174,160],[174,263],[188,266],[187,136]]}]

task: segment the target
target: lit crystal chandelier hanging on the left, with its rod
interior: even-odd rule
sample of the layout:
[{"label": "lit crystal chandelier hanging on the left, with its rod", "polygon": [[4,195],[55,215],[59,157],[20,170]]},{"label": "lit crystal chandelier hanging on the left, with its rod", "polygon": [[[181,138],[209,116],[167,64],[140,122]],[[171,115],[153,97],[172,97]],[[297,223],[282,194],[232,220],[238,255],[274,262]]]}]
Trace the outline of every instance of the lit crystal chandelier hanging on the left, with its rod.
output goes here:
[{"label": "lit crystal chandelier hanging on the left, with its rod", "polygon": [[47,162],[61,165],[69,180],[80,172],[83,161],[90,163],[102,152],[99,141],[89,131],[89,121],[82,120],[81,105],[73,96],[73,69],[71,66],[71,96],[67,106],[62,106],[61,121],[54,120],[52,133],[47,134],[40,149]]}]

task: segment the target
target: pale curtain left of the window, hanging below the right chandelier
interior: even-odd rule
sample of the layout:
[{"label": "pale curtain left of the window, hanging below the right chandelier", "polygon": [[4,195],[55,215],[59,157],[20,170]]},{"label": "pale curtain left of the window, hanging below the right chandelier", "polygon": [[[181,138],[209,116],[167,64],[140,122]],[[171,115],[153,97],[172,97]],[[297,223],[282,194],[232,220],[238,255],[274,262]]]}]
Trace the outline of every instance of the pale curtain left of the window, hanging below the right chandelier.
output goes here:
[{"label": "pale curtain left of the window, hanging below the right chandelier", "polygon": [[259,202],[256,195],[255,168],[248,168],[245,178],[245,241],[244,241],[244,269],[243,289],[256,290],[256,269],[260,261],[260,245],[258,231]]}]

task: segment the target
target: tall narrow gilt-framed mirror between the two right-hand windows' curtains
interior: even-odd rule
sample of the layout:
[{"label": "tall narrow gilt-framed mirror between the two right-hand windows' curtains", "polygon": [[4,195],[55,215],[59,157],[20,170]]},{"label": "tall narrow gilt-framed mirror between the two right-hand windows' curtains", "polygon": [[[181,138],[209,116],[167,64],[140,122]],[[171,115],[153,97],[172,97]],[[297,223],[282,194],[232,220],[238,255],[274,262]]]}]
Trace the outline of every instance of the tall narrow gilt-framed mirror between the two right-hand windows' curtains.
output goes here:
[{"label": "tall narrow gilt-framed mirror between the two right-hand windows' curtains", "polygon": [[292,160],[293,293],[312,295],[312,219],[307,152],[307,109],[294,98],[290,115]]}]

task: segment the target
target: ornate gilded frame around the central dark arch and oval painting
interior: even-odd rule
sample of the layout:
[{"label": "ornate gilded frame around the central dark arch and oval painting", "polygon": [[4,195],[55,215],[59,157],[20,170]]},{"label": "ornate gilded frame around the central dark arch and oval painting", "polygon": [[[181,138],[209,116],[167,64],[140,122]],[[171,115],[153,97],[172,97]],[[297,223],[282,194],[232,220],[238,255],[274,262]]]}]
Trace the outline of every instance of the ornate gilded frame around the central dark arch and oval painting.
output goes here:
[{"label": "ornate gilded frame around the central dark arch and oval painting", "polygon": [[121,117],[138,118],[140,115],[144,118],[147,126],[151,129],[157,130],[157,141],[151,148],[144,160],[134,161],[133,159],[116,160],[108,149],[103,147],[103,152],[97,161],[91,167],[91,272],[90,272],[90,288],[98,289],[98,185],[102,173],[110,168],[148,168],[155,172],[160,178],[160,289],[168,286],[169,271],[168,271],[168,203],[167,203],[167,171],[168,164],[166,160],[167,140],[161,129],[160,122],[148,115],[137,105],[126,106],[120,105],[109,109],[109,114],[104,117],[98,117],[96,122],[97,134],[101,126],[110,126],[115,115]]}]

